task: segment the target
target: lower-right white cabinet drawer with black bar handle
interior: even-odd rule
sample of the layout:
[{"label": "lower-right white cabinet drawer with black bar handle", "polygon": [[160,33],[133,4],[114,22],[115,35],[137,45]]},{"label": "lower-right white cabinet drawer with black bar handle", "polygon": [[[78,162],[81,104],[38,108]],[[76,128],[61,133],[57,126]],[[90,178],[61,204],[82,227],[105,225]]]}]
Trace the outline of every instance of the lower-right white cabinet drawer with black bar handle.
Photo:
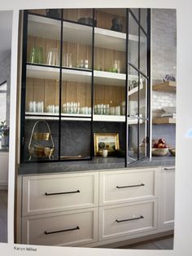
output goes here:
[{"label": "lower-right white cabinet drawer with black bar handle", "polygon": [[156,201],[101,207],[99,241],[156,229],[156,207]]}]

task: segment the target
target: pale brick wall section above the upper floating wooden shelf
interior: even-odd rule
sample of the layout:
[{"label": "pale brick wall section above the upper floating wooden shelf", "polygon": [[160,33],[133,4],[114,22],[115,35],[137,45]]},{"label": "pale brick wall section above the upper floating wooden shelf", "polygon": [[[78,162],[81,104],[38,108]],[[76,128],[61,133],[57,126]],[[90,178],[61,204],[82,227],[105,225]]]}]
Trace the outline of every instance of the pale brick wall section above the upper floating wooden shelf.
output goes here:
[{"label": "pale brick wall section above the upper floating wooden shelf", "polygon": [[176,10],[152,10],[152,76],[162,82],[166,74],[176,76],[177,61]]}]

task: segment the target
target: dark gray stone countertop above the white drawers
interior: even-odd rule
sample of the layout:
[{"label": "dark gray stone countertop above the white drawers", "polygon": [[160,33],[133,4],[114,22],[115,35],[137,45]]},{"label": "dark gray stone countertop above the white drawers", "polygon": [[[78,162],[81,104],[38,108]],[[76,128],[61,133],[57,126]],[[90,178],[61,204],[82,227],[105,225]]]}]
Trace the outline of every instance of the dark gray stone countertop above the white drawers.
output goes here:
[{"label": "dark gray stone countertop above the white drawers", "polygon": [[[175,166],[175,157],[152,157],[129,163],[127,168],[153,166]],[[94,157],[89,161],[58,161],[47,163],[24,163],[19,166],[19,174],[54,174],[83,170],[110,170],[124,168],[124,158]]]}]

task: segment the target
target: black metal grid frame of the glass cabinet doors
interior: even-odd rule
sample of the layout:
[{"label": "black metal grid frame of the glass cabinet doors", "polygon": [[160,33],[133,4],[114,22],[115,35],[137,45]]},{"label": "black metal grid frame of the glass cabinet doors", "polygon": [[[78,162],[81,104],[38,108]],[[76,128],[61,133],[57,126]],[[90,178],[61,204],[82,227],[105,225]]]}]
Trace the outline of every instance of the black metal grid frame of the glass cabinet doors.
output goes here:
[{"label": "black metal grid frame of the glass cabinet doors", "polygon": [[[129,140],[129,130],[128,130],[128,106],[129,106],[129,97],[128,97],[128,92],[129,92],[129,66],[131,66],[132,68],[134,68],[137,73],[138,73],[138,89],[140,87],[140,75],[142,75],[143,77],[146,78],[147,81],[147,117],[146,117],[146,139],[147,139],[147,144],[146,144],[146,157],[150,157],[150,127],[151,127],[151,93],[150,93],[150,84],[151,84],[151,10],[147,9],[147,31],[145,31],[145,29],[142,28],[142,24],[141,24],[141,10],[138,9],[138,19],[137,17],[133,14],[133,11],[131,11],[131,9],[127,8],[126,9],[126,55],[127,55],[127,61],[126,61],[126,81],[125,81],[125,93],[126,93],[126,99],[125,99],[125,109],[126,109],[126,114],[125,114],[125,126],[126,126],[126,133],[125,133],[125,159],[124,159],[124,166],[127,167],[129,166],[128,161],[128,140]],[[83,69],[83,68],[68,68],[68,67],[63,67],[62,65],[62,56],[63,56],[63,22],[70,22],[70,23],[74,23],[74,24],[80,24],[76,21],[73,20],[66,20],[64,19],[63,16],[63,9],[61,9],[61,18],[54,18],[51,17],[50,19],[52,20],[59,20],[61,22],[61,30],[60,30],[60,63],[59,66],[51,66],[51,65],[46,65],[46,64],[31,64],[31,63],[27,63],[27,39],[28,39],[28,15],[37,15],[37,16],[43,16],[45,17],[45,15],[40,15],[40,14],[34,14],[31,13],[30,11],[24,11],[24,31],[23,31],[23,57],[22,57],[22,88],[21,88],[21,129],[20,129],[20,161],[21,162],[28,162],[28,161],[24,161],[24,121],[25,121],[25,117],[32,117],[33,114],[25,114],[25,93],[26,93],[26,68],[27,68],[27,64],[28,65],[37,65],[37,66],[43,66],[43,67],[50,67],[50,68],[58,68],[59,70],[59,114],[57,116],[53,116],[53,115],[47,115],[46,117],[56,117],[58,118],[59,121],[59,156],[58,159],[53,159],[51,161],[55,162],[55,161],[89,161],[92,159],[93,157],[93,152],[94,152],[94,138],[93,138],[93,126],[94,126],[94,22],[92,25],[89,24],[82,24],[85,26],[89,26],[92,27],[92,67],[91,69]],[[138,68],[135,67],[132,63],[130,63],[129,60],[129,15],[132,15],[133,19],[136,21],[137,25],[138,25]],[[93,20],[94,20],[94,16],[95,16],[95,10],[93,9]],[[49,18],[49,17],[47,17]],[[142,73],[142,71],[140,70],[140,31],[142,30],[142,32],[146,35],[147,38],[147,73]],[[68,114],[63,115],[61,114],[61,107],[62,107],[62,76],[63,76],[63,69],[73,69],[73,70],[83,70],[86,72],[91,72],[92,73],[92,77],[91,77],[91,116],[90,117],[83,117],[83,118],[87,118],[90,120],[91,124],[90,124],[90,157],[86,157],[86,158],[82,158],[82,159],[61,159],[61,122],[63,121],[63,117],[70,117],[68,116]],[[138,121],[137,121],[137,161],[142,160],[140,159],[139,156],[139,136],[140,136],[140,119],[139,119],[139,90],[138,90]],[[36,115],[37,117],[45,117],[44,115],[38,114]],[[77,117],[74,117],[74,121],[76,120]],[[32,161],[32,162],[50,162],[50,160],[41,160],[41,161]]]}]

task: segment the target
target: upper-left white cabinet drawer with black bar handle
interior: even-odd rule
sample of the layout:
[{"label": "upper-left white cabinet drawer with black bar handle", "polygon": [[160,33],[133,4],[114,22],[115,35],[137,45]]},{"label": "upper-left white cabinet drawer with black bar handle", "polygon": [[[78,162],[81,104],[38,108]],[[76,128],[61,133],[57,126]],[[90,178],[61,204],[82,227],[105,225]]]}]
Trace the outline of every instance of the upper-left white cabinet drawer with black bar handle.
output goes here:
[{"label": "upper-left white cabinet drawer with black bar handle", "polygon": [[23,178],[23,216],[97,205],[97,172],[47,174]]}]

